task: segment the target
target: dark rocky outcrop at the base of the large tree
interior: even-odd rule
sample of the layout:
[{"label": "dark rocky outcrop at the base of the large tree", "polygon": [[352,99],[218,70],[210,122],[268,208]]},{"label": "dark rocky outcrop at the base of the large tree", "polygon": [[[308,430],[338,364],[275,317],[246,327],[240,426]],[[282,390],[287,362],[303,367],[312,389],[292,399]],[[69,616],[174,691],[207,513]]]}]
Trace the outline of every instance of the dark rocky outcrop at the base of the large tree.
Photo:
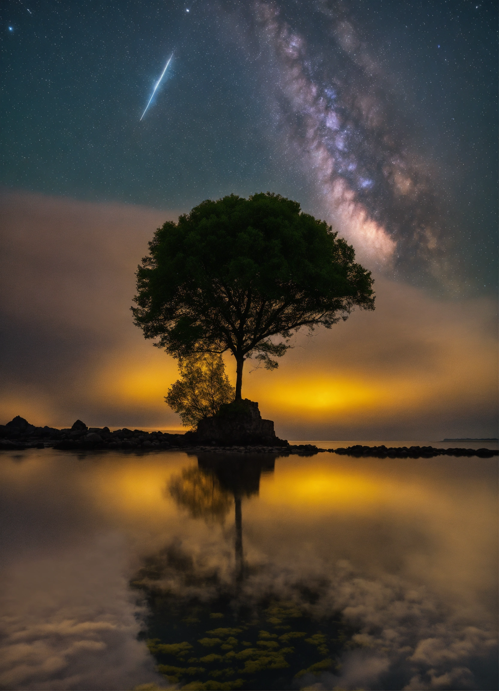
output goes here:
[{"label": "dark rocky outcrop at the base of the large tree", "polygon": [[272,420],[263,420],[258,403],[245,398],[221,406],[213,417],[200,420],[196,432],[198,442],[214,444],[265,444],[287,446],[276,437]]}]

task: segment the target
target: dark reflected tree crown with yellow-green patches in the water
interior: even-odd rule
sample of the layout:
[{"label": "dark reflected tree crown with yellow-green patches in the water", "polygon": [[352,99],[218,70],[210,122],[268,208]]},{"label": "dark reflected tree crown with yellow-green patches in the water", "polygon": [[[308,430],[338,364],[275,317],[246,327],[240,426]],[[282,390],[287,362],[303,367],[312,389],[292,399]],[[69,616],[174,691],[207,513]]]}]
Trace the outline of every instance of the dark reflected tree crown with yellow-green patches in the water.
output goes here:
[{"label": "dark reflected tree crown with yellow-green patches in the water", "polygon": [[[171,583],[171,569],[190,596],[164,585],[165,576]],[[183,690],[300,688],[337,672],[341,652],[357,647],[355,630],[341,615],[315,616],[311,605],[320,588],[296,584],[287,600],[248,589],[243,596],[215,573],[196,575],[193,560],[178,547],[149,558],[131,585],[149,605],[143,637],[158,671]]]}]

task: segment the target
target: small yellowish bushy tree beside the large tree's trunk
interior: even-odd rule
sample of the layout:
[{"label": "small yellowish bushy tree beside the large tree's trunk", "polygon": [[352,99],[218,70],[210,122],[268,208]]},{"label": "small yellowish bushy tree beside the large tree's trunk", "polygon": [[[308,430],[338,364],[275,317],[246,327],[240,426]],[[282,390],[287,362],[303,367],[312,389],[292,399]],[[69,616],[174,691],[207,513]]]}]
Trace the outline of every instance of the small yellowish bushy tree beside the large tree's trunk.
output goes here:
[{"label": "small yellowish bushy tree beside the large tree's trunk", "polygon": [[185,427],[196,428],[200,419],[216,415],[220,406],[234,401],[236,390],[220,354],[185,357],[178,361],[178,368],[180,379],[170,386],[164,400]]}]

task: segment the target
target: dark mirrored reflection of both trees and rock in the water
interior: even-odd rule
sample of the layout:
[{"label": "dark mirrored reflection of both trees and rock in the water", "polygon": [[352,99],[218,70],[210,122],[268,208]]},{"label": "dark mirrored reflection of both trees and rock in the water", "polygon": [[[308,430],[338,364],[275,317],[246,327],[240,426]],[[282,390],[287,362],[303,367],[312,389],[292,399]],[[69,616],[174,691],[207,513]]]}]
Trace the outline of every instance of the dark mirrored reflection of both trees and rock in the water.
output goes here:
[{"label": "dark mirrored reflection of both trees and rock in the water", "polygon": [[[274,457],[200,455],[198,466],[171,476],[167,493],[191,518],[223,524],[234,506],[232,578],[173,542],[147,556],[131,586],[144,592],[151,615],[147,645],[158,670],[184,689],[301,688],[305,677],[339,670],[343,650],[359,647],[339,612],[313,611],[323,584],[296,581],[288,598],[279,584],[243,587],[244,498],[258,495]],[[250,569],[260,576],[265,569]],[[251,574],[249,574],[251,575]]]}]

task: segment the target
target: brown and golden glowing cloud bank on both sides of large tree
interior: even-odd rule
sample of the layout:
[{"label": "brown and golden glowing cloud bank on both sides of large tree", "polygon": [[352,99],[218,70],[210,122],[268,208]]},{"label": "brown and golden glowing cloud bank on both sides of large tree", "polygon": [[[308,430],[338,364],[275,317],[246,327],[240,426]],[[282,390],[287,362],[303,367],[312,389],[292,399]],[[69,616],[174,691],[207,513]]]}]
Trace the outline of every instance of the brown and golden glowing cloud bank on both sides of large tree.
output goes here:
[{"label": "brown and golden glowing cloud bank on both sides of large tree", "polygon": [[[4,193],[3,423],[180,428],[164,395],[176,363],[132,323],[135,268],[178,212]],[[377,274],[375,312],[299,335],[244,395],[290,439],[491,436],[497,305],[446,301]],[[234,363],[227,357],[234,379]]]}]

